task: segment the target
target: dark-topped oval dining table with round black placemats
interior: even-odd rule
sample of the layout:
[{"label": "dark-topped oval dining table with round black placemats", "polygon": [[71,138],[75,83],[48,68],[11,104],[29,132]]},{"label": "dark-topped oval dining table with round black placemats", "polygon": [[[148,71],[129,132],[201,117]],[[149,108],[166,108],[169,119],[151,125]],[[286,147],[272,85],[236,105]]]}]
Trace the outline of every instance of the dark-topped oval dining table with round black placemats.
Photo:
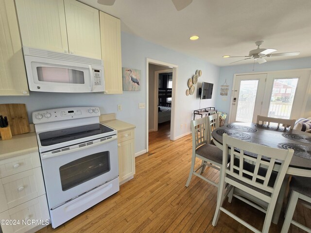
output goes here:
[{"label": "dark-topped oval dining table with round black placemats", "polygon": [[[277,224],[290,175],[311,177],[311,133],[277,125],[235,122],[212,131],[214,144],[223,149],[223,133],[231,137],[272,148],[293,149],[294,155],[279,192],[272,222]],[[247,152],[244,152],[247,154]],[[254,153],[247,154],[256,156]],[[276,161],[274,170],[279,169]]]}]

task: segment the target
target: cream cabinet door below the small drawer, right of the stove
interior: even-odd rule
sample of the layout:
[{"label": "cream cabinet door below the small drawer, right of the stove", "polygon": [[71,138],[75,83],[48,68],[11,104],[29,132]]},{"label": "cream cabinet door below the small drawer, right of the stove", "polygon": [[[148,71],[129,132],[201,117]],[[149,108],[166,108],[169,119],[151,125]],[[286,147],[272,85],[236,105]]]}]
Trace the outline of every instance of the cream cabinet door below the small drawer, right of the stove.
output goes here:
[{"label": "cream cabinet door below the small drawer, right of the stove", "polygon": [[119,182],[135,174],[134,139],[118,143]]}]

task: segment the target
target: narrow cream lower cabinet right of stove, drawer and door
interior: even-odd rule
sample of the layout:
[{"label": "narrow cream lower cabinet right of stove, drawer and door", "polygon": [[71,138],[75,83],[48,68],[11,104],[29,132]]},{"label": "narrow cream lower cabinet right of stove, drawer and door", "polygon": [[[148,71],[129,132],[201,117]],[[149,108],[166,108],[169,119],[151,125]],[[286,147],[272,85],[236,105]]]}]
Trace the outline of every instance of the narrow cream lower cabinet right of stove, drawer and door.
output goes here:
[{"label": "narrow cream lower cabinet right of stove, drawer and door", "polygon": [[134,129],[118,132],[119,182],[133,178],[135,174]]}]

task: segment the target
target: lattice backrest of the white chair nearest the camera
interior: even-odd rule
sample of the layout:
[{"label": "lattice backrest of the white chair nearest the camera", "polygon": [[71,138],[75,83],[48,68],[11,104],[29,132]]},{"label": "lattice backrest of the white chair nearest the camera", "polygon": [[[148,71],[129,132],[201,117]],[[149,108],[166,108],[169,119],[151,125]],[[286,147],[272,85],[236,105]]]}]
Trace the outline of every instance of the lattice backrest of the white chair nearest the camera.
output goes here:
[{"label": "lattice backrest of the white chair nearest the camera", "polygon": [[[232,148],[234,148],[235,150],[230,150]],[[221,179],[225,179],[226,183],[231,183],[234,186],[242,189],[246,193],[258,197],[259,199],[264,200],[268,203],[272,202],[272,200],[276,201],[282,181],[291,162],[293,153],[293,149],[283,150],[271,148],[259,144],[242,141],[230,137],[226,133],[224,133],[223,161],[228,161],[228,157],[230,157],[230,161],[235,162],[230,163],[229,167],[225,162],[223,163]],[[253,156],[249,156],[246,154]],[[254,154],[257,155],[257,157],[254,156]],[[262,157],[264,158],[264,160],[262,160]],[[271,174],[275,166],[276,160],[281,165],[278,169],[276,182],[274,183],[273,187],[270,187],[268,183],[271,178]],[[247,169],[247,167],[244,167],[249,163],[253,164],[252,169]],[[257,190],[250,188],[249,186],[242,183],[237,183],[237,180],[256,187]],[[261,189],[262,191],[260,192],[259,189]]]}]

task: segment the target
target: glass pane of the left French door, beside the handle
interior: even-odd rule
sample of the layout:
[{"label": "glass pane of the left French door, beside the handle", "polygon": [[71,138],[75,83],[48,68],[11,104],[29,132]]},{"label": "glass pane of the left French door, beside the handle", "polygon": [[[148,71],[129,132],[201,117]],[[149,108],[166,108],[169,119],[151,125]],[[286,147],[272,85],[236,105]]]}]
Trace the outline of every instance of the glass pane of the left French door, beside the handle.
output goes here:
[{"label": "glass pane of the left French door, beside the handle", "polygon": [[252,122],[259,80],[242,80],[236,121]]}]

